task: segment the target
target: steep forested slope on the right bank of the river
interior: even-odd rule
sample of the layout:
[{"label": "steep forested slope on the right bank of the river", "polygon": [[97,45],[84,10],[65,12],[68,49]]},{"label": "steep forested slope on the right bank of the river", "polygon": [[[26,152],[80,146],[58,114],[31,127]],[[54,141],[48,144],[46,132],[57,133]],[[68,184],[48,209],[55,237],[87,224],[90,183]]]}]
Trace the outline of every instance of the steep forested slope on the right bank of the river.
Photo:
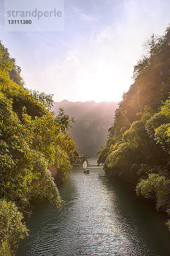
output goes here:
[{"label": "steep forested slope on the right bank of the river", "polygon": [[150,54],[134,67],[134,84],[116,110],[98,163],[170,214],[170,28],[160,38],[152,36],[148,47]]}]

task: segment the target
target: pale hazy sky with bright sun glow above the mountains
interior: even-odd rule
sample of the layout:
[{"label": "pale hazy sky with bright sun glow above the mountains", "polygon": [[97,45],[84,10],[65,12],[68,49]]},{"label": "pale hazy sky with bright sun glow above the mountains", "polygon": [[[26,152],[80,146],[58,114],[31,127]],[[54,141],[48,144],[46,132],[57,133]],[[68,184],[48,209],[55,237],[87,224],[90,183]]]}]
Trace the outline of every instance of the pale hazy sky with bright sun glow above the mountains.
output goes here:
[{"label": "pale hazy sky with bright sun glow above the mountains", "polygon": [[54,101],[120,101],[144,41],[170,22],[170,0],[65,0],[64,32],[3,32],[26,87]]}]

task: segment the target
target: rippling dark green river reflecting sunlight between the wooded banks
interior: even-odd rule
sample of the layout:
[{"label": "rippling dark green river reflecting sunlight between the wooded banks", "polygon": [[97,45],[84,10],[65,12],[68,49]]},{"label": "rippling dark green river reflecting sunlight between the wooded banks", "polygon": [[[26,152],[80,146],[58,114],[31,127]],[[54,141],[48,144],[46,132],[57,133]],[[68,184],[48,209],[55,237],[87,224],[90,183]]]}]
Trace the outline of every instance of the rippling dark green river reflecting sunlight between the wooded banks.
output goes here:
[{"label": "rippling dark green river reflecting sunlight between the wooded banks", "polygon": [[32,215],[17,256],[170,256],[167,217],[129,184],[99,177],[101,166],[88,169],[74,167],[59,187],[60,211],[48,205]]}]

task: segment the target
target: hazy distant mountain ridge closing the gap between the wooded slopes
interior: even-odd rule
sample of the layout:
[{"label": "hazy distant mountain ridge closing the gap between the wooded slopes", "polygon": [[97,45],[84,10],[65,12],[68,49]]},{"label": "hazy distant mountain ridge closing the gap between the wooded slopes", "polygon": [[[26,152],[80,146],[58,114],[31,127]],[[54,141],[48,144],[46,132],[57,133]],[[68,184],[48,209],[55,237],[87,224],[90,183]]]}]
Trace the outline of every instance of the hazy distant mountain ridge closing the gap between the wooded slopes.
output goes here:
[{"label": "hazy distant mountain ridge closing the gap between the wooded slopes", "polygon": [[78,144],[79,154],[96,156],[101,145],[105,145],[118,105],[119,102],[69,102],[65,99],[55,102],[52,111],[57,114],[59,107],[62,107],[65,113],[75,117],[74,129],[69,133]]}]

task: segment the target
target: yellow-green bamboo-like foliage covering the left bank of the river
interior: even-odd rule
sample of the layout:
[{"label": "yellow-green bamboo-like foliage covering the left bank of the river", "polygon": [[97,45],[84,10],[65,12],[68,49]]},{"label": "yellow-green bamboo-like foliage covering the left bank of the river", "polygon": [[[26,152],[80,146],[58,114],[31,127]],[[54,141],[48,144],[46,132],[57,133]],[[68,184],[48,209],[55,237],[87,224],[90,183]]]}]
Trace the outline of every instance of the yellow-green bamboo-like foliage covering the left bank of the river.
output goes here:
[{"label": "yellow-green bamboo-like foliage covering the left bank of the river", "polygon": [[22,219],[37,205],[61,207],[57,185],[77,161],[77,145],[67,134],[72,118],[50,112],[51,95],[23,87],[20,68],[0,44],[0,255],[13,255],[27,235]]}]

